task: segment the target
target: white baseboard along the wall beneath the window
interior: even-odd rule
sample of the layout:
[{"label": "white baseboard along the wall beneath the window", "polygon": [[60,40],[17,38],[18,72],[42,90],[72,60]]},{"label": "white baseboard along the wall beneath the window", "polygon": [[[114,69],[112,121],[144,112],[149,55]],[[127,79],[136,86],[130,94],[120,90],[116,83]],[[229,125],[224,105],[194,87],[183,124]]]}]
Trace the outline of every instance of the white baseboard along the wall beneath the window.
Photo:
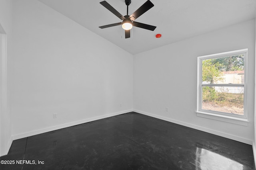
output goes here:
[{"label": "white baseboard along the wall beneath the window", "polygon": [[152,114],[152,113],[147,113],[147,112],[136,110],[136,109],[133,109],[133,111],[136,112],[136,113],[140,113],[140,114],[143,114],[143,115],[148,115],[150,117],[155,117],[155,118],[158,118],[158,119],[162,119],[162,120],[165,120],[165,121],[176,123],[178,125],[183,125],[183,126],[186,126],[186,127],[191,127],[193,129],[197,129],[197,130],[204,131],[204,132],[207,132],[207,133],[212,133],[214,135],[218,135],[218,136],[221,136],[221,137],[226,137],[228,139],[232,139],[232,140],[235,140],[235,141],[238,141],[238,142],[242,142],[242,143],[246,143],[246,144],[252,145],[252,140],[250,140],[250,139],[238,137],[238,136],[235,136],[235,135],[230,135],[228,133],[223,133],[223,132],[216,131],[216,130],[213,130],[213,129],[208,129],[208,128],[205,128],[205,127],[202,127],[202,126],[193,125],[193,124],[186,123],[186,122],[183,122],[183,121],[178,121],[178,120],[175,120],[175,119],[170,119],[168,117],[163,117],[163,116],[160,116],[160,115],[155,115],[155,114]]}]

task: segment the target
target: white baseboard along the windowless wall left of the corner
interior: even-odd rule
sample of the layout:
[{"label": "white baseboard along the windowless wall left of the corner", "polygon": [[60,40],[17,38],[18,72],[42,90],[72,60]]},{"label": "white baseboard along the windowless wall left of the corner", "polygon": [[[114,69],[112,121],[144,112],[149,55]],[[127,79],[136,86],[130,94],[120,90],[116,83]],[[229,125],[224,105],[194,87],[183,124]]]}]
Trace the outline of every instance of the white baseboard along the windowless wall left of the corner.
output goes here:
[{"label": "white baseboard along the windowless wall left of the corner", "polygon": [[116,112],[116,113],[110,113],[110,114],[96,116],[96,117],[91,117],[91,118],[88,118],[88,119],[83,119],[83,120],[79,120],[79,121],[65,123],[65,124],[62,124],[62,125],[56,125],[56,126],[52,126],[52,127],[47,127],[47,128],[44,128],[44,129],[38,129],[36,131],[20,133],[20,134],[13,135],[12,139],[16,140],[16,139],[21,139],[21,138],[24,138],[24,137],[30,137],[30,136],[33,136],[33,135],[38,135],[38,134],[41,134],[41,133],[55,131],[55,130],[58,130],[58,129],[62,129],[62,128],[66,128],[66,127],[70,127],[70,126],[74,126],[74,125],[80,125],[82,123],[87,123],[87,122],[90,122],[90,121],[95,121],[95,120],[104,119],[104,118],[107,118],[107,117],[121,115],[121,114],[124,114],[124,113],[129,113],[131,111],[133,111],[133,109],[119,111],[119,112]]}]

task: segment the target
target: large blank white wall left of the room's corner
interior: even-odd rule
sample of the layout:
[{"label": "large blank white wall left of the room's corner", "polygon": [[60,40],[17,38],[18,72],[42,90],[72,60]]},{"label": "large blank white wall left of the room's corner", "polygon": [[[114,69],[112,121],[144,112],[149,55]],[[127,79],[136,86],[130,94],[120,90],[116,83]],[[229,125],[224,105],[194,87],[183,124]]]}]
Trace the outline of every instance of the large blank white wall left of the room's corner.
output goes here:
[{"label": "large blank white wall left of the room's corner", "polygon": [[13,17],[14,139],[132,111],[130,53],[35,0]]}]

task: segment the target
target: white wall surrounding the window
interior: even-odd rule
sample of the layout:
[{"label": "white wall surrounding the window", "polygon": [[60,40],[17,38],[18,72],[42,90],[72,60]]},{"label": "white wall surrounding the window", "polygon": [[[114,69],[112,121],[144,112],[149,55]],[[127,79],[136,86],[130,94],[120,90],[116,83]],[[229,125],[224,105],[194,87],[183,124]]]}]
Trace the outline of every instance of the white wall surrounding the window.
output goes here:
[{"label": "white wall surrounding the window", "polygon": [[[245,48],[248,126],[197,117],[197,57]],[[252,145],[254,57],[255,20],[134,55],[134,111]]]}]

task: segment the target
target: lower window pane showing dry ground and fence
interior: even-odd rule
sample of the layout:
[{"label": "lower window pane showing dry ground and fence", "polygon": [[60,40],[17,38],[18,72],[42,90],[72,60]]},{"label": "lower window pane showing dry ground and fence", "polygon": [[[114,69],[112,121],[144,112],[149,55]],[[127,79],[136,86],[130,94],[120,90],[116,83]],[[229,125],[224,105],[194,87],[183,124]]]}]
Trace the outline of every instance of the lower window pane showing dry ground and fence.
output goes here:
[{"label": "lower window pane showing dry ground and fence", "polygon": [[244,87],[203,86],[202,109],[244,115]]}]

